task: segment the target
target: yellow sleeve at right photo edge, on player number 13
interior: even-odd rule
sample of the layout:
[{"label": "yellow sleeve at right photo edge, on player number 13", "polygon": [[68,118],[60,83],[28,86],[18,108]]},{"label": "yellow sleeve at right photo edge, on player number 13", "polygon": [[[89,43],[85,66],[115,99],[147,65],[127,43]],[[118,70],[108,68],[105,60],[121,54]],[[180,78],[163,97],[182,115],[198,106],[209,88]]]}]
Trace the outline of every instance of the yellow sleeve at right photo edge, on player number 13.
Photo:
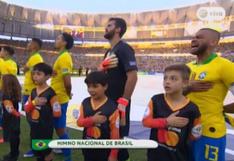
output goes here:
[{"label": "yellow sleeve at right photo edge, on player number 13", "polygon": [[220,70],[221,80],[227,88],[234,83],[234,63],[229,60],[222,62],[222,68]]}]

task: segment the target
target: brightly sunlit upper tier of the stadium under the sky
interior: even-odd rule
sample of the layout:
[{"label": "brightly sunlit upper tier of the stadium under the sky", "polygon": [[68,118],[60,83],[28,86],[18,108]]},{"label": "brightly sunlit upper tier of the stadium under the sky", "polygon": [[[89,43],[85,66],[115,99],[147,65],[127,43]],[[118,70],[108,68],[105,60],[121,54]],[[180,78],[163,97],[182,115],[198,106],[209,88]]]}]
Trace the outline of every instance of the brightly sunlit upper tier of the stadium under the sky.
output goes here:
[{"label": "brightly sunlit upper tier of the stadium under the sky", "polygon": [[[61,31],[70,32],[77,40],[102,41],[104,27],[110,17],[124,18],[128,23],[125,35],[129,40],[178,39],[188,37],[201,26],[210,22],[201,21],[197,14],[201,7],[222,7],[225,18],[212,25],[222,32],[234,33],[234,1],[204,3],[171,10],[122,14],[55,13],[8,4],[0,0],[0,34],[18,37],[54,39]],[[200,16],[209,13],[200,12]],[[213,13],[211,13],[213,14]],[[219,13],[214,13],[219,14]],[[214,24],[215,23],[215,24]]]}]

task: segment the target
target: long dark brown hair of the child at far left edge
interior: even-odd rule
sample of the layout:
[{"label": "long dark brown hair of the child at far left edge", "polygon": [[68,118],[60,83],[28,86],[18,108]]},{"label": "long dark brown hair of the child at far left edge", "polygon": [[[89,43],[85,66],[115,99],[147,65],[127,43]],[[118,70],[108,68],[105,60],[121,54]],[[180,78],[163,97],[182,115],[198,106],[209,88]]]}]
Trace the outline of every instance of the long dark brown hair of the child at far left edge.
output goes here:
[{"label": "long dark brown hair of the child at far left edge", "polygon": [[6,74],[2,76],[2,93],[3,96],[9,97],[13,101],[20,102],[21,86],[15,75]]}]

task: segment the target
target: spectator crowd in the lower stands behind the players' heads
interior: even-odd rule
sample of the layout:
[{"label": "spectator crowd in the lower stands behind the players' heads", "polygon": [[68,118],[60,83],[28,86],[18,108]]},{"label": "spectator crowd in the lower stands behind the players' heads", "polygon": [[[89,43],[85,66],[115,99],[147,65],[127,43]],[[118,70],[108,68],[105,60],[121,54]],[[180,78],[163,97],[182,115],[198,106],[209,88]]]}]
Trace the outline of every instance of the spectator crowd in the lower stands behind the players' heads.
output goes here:
[{"label": "spectator crowd in the lower stands behind the players' heads", "polygon": [[[26,41],[18,40],[4,40],[0,39],[0,45],[11,45],[16,50],[15,59],[18,66],[21,68],[27,61],[27,51],[25,50]],[[139,49],[134,48],[136,52],[136,59],[139,67],[139,71],[142,72],[162,72],[168,65],[175,63],[188,63],[194,59],[192,55],[189,55],[189,44],[174,44],[168,47],[155,47]],[[166,45],[165,45],[166,46]],[[76,45],[72,49],[74,70],[81,70],[85,73],[87,69],[95,70],[102,61],[102,55],[105,53],[103,47],[82,47]],[[216,49],[225,58],[234,61],[234,46],[233,43],[220,43]],[[53,44],[51,42],[43,43],[43,50],[41,51],[44,60],[48,64],[53,64],[55,61],[55,54]],[[187,54],[185,56],[173,56],[173,54]],[[87,55],[92,54],[92,55]],[[93,55],[94,54],[94,55]],[[97,56],[95,56],[97,54]],[[160,55],[157,55],[160,54]],[[162,56],[162,54],[165,54]]]}]

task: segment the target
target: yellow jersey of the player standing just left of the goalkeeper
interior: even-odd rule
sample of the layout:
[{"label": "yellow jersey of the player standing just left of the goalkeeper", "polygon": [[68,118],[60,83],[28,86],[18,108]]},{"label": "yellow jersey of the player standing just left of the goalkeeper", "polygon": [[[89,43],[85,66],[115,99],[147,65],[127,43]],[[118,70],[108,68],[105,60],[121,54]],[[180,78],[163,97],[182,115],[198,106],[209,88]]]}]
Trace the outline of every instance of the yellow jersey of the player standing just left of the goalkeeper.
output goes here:
[{"label": "yellow jersey of the player standing just left of the goalkeeper", "polygon": [[67,50],[61,52],[59,57],[54,63],[53,71],[54,75],[51,79],[51,87],[54,89],[58,96],[58,100],[60,104],[66,103],[69,101],[69,96],[67,95],[63,77],[66,74],[70,74],[72,72],[73,63],[71,53]]}]

